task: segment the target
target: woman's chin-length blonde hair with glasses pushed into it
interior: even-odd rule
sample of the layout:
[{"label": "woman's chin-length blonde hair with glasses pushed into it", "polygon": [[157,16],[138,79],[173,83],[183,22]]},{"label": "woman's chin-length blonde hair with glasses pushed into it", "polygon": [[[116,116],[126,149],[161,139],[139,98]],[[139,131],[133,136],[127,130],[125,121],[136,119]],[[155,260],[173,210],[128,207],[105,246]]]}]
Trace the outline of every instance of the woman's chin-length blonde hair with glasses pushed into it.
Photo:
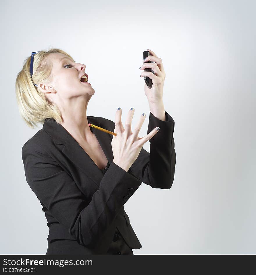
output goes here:
[{"label": "woman's chin-length blonde hair with glasses pushed into it", "polygon": [[51,81],[53,64],[48,58],[50,53],[63,53],[74,61],[61,49],[51,48],[48,51],[40,51],[34,56],[32,78],[29,72],[31,56],[24,60],[22,70],[16,78],[15,93],[19,113],[32,129],[38,127],[37,123],[43,124],[47,118],[53,118],[57,123],[62,122],[61,112],[57,105],[49,101],[45,94],[33,84]]}]

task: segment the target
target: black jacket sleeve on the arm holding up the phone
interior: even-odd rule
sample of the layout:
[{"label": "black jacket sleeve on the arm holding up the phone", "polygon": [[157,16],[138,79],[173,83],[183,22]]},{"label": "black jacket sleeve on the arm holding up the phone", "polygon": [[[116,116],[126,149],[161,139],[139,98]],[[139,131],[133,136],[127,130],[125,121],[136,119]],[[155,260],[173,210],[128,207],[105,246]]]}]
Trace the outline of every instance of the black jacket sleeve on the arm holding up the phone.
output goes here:
[{"label": "black jacket sleeve on the arm holding up the phone", "polygon": [[[138,158],[128,172],[152,188],[170,189],[174,181],[176,153],[174,149],[174,120],[165,111],[166,121],[149,115],[147,134],[157,126],[158,133],[150,140],[150,153],[141,148]],[[112,122],[113,131],[115,122]]]}]

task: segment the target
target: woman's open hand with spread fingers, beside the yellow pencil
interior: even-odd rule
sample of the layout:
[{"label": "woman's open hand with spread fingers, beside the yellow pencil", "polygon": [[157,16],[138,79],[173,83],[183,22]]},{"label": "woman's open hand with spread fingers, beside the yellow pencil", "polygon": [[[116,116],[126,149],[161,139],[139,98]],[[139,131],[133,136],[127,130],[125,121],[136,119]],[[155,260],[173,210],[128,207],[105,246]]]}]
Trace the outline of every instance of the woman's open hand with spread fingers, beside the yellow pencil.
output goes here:
[{"label": "woman's open hand with spread fingers, beside the yellow pencil", "polygon": [[113,151],[113,162],[124,169],[126,172],[129,170],[134,161],[138,158],[138,155],[143,147],[143,144],[150,140],[158,131],[158,127],[154,128],[149,134],[143,138],[138,137],[138,133],[141,130],[142,124],[145,120],[146,115],[141,115],[139,122],[134,129],[131,131],[131,121],[134,115],[134,108],[129,110],[125,121],[125,128],[122,124],[122,110],[116,111],[115,114],[115,130],[116,136],[113,135],[111,142]]}]

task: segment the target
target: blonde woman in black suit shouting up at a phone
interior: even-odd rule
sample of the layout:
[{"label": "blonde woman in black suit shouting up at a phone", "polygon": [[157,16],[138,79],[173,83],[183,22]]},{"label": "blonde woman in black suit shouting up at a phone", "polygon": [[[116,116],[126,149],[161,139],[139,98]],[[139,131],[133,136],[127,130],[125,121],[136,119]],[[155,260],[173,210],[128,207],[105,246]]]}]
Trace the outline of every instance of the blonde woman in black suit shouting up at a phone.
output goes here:
[{"label": "blonde woman in black suit shouting up at a phone", "polygon": [[[134,108],[125,126],[120,108],[115,122],[87,116],[95,90],[81,82],[84,75],[88,79],[86,65],[75,63],[66,52],[34,52],[17,75],[22,118],[31,128],[43,124],[22,147],[22,159],[26,181],[47,218],[46,254],[133,254],[132,248],[142,247],[123,206],[142,182],[169,189],[176,164],[174,121],[162,100],[165,72],[161,58],[150,54],[144,61],[155,63],[140,68],[154,71],[141,72],[153,82],[151,89],[145,84],[150,116],[143,138],[138,133],[145,114],[131,131]],[[150,153],[142,148],[147,140]]]}]

